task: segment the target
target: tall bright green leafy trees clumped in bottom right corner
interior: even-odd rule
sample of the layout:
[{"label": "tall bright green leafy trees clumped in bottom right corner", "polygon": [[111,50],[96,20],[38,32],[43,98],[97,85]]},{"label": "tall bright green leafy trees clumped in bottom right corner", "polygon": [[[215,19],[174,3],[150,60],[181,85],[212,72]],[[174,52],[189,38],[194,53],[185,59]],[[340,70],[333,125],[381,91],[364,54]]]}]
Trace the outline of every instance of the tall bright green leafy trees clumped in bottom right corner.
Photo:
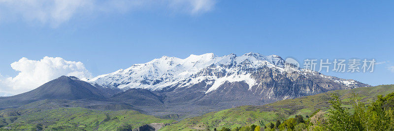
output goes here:
[{"label": "tall bright green leafy trees clumped in bottom right corner", "polygon": [[[369,105],[358,100],[353,93],[353,115],[342,107],[342,102],[335,94],[330,101],[332,109],[328,110],[328,128],[335,131],[394,131],[394,92],[383,97],[378,96]],[[312,118],[312,117],[311,117]],[[312,119],[311,122],[313,123]]]}]

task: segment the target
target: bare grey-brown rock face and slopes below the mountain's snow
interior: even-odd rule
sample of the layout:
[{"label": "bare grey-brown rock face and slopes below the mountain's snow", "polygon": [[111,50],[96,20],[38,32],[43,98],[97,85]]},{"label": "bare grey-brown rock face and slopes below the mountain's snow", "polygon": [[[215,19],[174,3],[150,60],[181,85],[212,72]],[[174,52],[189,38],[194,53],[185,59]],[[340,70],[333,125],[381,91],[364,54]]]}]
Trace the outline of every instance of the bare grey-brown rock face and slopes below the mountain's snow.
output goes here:
[{"label": "bare grey-brown rock face and slopes below the mountain's snow", "polygon": [[[214,69],[204,69],[197,74],[199,76],[228,76],[230,73],[220,72]],[[263,105],[284,99],[292,99],[314,95],[329,90],[351,89],[369,86],[355,80],[349,80],[349,85],[338,82],[339,79],[317,75],[302,74],[299,72],[280,72],[272,68],[260,68],[250,74],[251,82],[225,80],[215,90],[208,91],[214,85],[215,80],[204,79],[190,86],[176,84],[161,90],[166,96],[167,104],[198,105],[211,107],[212,110],[225,109],[240,105]],[[219,74],[219,75],[218,75]],[[242,73],[240,73],[241,75]],[[237,75],[235,75],[237,76]],[[347,81],[347,80],[346,80]],[[182,82],[180,82],[182,83]]]}]

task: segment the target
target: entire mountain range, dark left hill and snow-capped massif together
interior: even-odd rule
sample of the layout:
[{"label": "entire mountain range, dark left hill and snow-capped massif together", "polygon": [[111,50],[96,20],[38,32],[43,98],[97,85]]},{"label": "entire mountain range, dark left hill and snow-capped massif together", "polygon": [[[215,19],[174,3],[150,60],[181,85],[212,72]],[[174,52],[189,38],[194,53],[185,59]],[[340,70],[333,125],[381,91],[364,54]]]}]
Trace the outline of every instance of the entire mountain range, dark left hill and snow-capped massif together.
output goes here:
[{"label": "entire mountain range, dark left hill and snow-capped massif together", "polygon": [[277,55],[250,52],[219,57],[206,53],[185,59],[163,56],[87,81],[62,76],[32,91],[1,97],[0,108],[50,99],[57,106],[134,109],[181,118],[368,86],[298,67],[290,69]]}]

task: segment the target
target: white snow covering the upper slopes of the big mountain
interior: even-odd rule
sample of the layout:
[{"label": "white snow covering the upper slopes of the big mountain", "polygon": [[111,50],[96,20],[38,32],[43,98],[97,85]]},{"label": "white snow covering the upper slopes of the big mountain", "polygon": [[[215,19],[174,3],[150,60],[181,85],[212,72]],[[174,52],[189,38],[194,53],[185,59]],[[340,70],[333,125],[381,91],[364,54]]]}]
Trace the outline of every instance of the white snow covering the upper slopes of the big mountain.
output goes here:
[{"label": "white snow covering the upper slopes of the big mountain", "polygon": [[[216,90],[226,81],[244,81],[251,89],[252,86],[258,84],[256,77],[251,77],[254,72],[263,68],[285,72],[287,69],[284,64],[285,61],[280,56],[264,56],[254,52],[241,56],[231,53],[221,57],[213,53],[192,54],[185,59],[163,56],[144,64],[134,64],[125,70],[120,69],[114,73],[98,76],[88,82],[124,90],[129,88],[160,90],[171,85],[189,87],[205,81],[207,85],[212,85],[206,90],[208,93]],[[297,69],[296,72],[304,74],[305,77],[311,75],[302,69]],[[319,73],[314,76],[317,74]],[[323,77],[326,76],[323,75]],[[346,86],[351,86],[352,83],[347,79],[336,78],[335,80]]]}]

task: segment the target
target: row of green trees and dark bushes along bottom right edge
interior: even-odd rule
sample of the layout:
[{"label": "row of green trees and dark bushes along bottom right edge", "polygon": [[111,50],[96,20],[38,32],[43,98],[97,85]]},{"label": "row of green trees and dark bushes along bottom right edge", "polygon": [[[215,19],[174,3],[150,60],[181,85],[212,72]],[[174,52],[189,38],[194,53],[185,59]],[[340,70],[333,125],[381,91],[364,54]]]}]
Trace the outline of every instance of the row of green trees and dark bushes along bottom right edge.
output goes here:
[{"label": "row of green trees and dark bushes along bottom right edge", "polygon": [[343,107],[338,94],[332,94],[330,108],[316,110],[310,116],[296,115],[295,118],[276,122],[214,131],[394,131],[394,92],[378,96],[370,104],[360,101],[357,93],[351,98],[352,110]]}]

